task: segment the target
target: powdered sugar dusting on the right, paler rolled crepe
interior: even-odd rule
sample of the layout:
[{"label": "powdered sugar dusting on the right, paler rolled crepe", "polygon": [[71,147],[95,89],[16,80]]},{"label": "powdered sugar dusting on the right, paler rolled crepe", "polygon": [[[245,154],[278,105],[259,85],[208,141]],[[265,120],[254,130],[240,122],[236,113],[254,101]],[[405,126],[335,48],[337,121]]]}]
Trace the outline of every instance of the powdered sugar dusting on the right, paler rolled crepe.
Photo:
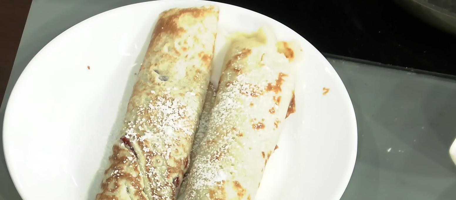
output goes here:
[{"label": "powdered sugar dusting on the right, paler rolled crepe", "polygon": [[[208,128],[208,134],[202,139],[200,147],[194,147],[200,149],[187,179],[193,190],[187,191],[183,197],[186,200],[197,200],[196,190],[206,190],[219,185],[221,181],[230,179],[236,173],[238,166],[233,164],[235,158],[228,152],[245,148],[244,144],[238,142],[239,131],[236,127],[242,127],[245,119],[252,118],[249,113],[243,111],[250,107],[254,98],[262,95],[267,84],[254,84],[251,78],[254,74],[258,74],[258,71],[238,74],[234,81],[229,81],[229,84],[227,80],[222,81],[224,87],[219,86],[216,105],[212,108],[210,118],[204,118],[204,114],[202,115],[202,120],[204,118],[205,121],[200,123],[204,123],[203,127]],[[240,113],[244,116],[239,116]]]}]

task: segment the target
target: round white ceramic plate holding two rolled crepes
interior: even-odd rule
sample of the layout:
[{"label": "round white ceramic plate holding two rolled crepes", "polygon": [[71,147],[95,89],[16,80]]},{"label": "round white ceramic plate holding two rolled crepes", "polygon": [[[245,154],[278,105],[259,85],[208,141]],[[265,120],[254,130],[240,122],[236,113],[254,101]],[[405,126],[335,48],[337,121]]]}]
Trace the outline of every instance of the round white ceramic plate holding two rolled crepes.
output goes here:
[{"label": "round white ceramic plate holding two rolled crepes", "polygon": [[[355,164],[356,119],[342,81],[320,52],[256,12],[166,0],[83,21],[49,42],[22,72],[6,108],[3,141],[24,200],[93,199],[158,14],[207,4],[220,6],[219,26],[228,32],[269,25],[279,40],[300,41],[305,52],[297,72],[297,112],[286,120],[256,200],[340,199]],[[326,95],[323,87],[330,89]]]}]

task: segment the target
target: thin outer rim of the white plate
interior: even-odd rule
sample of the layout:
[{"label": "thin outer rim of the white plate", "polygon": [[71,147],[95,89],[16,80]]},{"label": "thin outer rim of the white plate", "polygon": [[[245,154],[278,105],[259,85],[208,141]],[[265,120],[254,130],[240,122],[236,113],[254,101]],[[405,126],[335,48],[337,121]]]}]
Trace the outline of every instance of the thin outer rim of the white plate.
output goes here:
[{"label": "thin outer rim of the white plate", "polygon": [[[13,89],[11,90],[11,94],[10,94],[10,97],[8,98],[8,101],[6,103],[6,106],[5,106],[5,115],[4,115],[4,120],[3,120],[3,127],[2,127],[2,140],[3,140],[3,150],[4,150],[4,156],[5,156],[5,163],[6,163],[6,166],[7,166],[7,170],[10,174],[10,177],[11,177],[11,180],[17,190],[17,192],[19,193],[19,195],[21,196],[21,198],[24,198],[24,194],[26,193],[26,191],[24,190],[21,190],[21,184],[19,183],[19,178],[16,176],[16,175],[13,175],[13,174],[17,174],[18,171],[16,171],[16,169],[12,168],[11,164],[10,164],[10,160],[11,160],[11,152],[14,150],[14,148],[12,148],[12,145],[10,144],[7,144],[6,141],[8,140],[11,140],[10,137],[12,137],[11,134],[5,134],[5,133],[8,133],[7,129],[8,128],[8,116],[11,115],[11,106],[10,106],[10,101],[11,100],[14,100],[15,99],[15,96],[17,95],[17,93],[19,93],[19,91],[17,91],[17,87],[18,85],[22,85],[22,84],[25,84],[25,81],[23,80],[24,79],[24,74],[27,73],[27,71],[30,70],[30,64],[32,62],[34,62],[34,60],[36,60],[36,57],[40,56],[43,52],[44,49],[46,48],[49,48],[49,46],[52,45],[52,43],[54,43],[58,38],[60,37],[64,37],[68,32],[72,31],[73,29],[77,29],[79,26],[81,26],[82,24],[84,23],[87,23],[87,21],[91,21],[93,20],[94,18],[98,18],[98,17],[101,17],[102,15],[106,15],[107,13],[109,12],[115,12],[116,10],[121,10],[121,9],[125,9],[126,7],[133,7],[133,6],[137,6],[137,5],[140,5],[140,4],[155,4],[155,3],[161,3],[161,2],[169,2],[169,4],[176,4],[177,5],[177,2],[180,2],[180,1],[183,1],[183,0],[151,0],[151,1],[145,1],[145,2],[139,2],[139,3],[134,3],[134,4],[129,4],[129,5],[123,5],[123,6],[120,6],[120,7],[117,7],[117,8],[114,8],[114,9],[111,9],[111,10],[106,10],[104,12],[101,12],[97,15],[93,15],[83,21],[80,21],[78,22],[77,24],[69,27],[68,29],[66,29],[65,31],[63,31],[62,33],[58,34],[56,37],[54,37],[51,41],[49,41],[45,46],[43,46],[40,51],[38,51],[36,53],[35,56],[33,56],[33,58],[30,60],[30,62],[27,63],[26,67],[24,68],[24,70],[21,72],[21,75],[18,77]],[[254,10],[249,10],[247,8],[243,8],[243,7],[240,7],[240,6],[237,6],[237,5],[232,5],[232,4],[227,4],[227,3],[222,3],[222,2],[215,2],[215,1],[210,1],[210,0],[185,0],[185,1],[195,1],[195,2],[206,2],[207,4],[210,4],[210,5],[224,5],[224,6],[233,6],[233,7],[236,7],[236,9],[241,9],[241,10],[244,10],[244,11],[247,11],[247,12],[250,12],[254,15],[260,15],[261,17],[266,17],[266,18],[269,18],[270,20],[272,21],[275,21],[276,23],[279,23],[280,26],[283,26],[284,28],[288,28],[289,30],[291,30],[295,35],[299,36],[300,39],[303,39],[305,41],[306,38],[304,38],[303,36],[301,36],[299,33],[297,33],[295,30],[291,29],[290,27],[284,25],[283,23],[281,23],[280,21],[277,21],[275,20],[274,18],[272,17],[269,17],[267,15],[264,15],[264,14],[261,14],[259,12],[256,12]],[[352,143],[353,143],[353,147],[352,147],[352,151],[353,153],[350,155],[350,160],[347,162],[347,167],[348,167],[348,171],[346,173],[346,177],[343,181],[341,181],[341,183],[344,185],[344,187],[341,187],[340,190],[338,190],[337,192],[335,191],[335,193],[337,194],[337,199],[340,199],[342,197],[342,195],[344,194],[345,190],[347,189],[347,186],[350,182],[350,179],[352,177],[352,174],[353,174],[353,170],[354,170],[354,167],[355,167],[355,164],[356,164],[356,158],[357,158],[357,155],[358,155],[358,123],[357,123],[357,119],[356,119],[356,114],[355,114],[355,111],[354,111],[354,107],[353,107],[353,103],[352,103],[352,99],[350,97],[350,95],[348,94],[347,92],[347,87],[345,87],[345,84],[342,82],[342,79],[340,78],[339,74],[337,73],[337,71],[334,69],[334,67],[332,67],[331,63],[326,59],[326,57],[324,57],[321,52],[315,47],[312,45],[311,42],[307,41],[308,44],[310,44],[317,52],[318,52],[318,56],[320,58],[322,58],[322,60],[324,60],[324,62],[326,62],[327,66],[330,67],[330,71],[334,72],[334,74],[336,75],[335,77],[333,77],[333,79],[341,84],[343,86],[343,91],[341,91],[341,95],[344,97],[344,99],[347,99],[346,101],[346,106],[347,108],[349,108],[349,111],[348,112],[348,117],[352,118],[351,121],[351,126],[353,127],[353,137],[352,137]],[[6,125],[6,126],[5,126]],[[19,186],[19,187],[18,187]],[[343,190],[342,190],[343,188]],[[24,200],[29,200],[29,199],[24,199]]]}]

